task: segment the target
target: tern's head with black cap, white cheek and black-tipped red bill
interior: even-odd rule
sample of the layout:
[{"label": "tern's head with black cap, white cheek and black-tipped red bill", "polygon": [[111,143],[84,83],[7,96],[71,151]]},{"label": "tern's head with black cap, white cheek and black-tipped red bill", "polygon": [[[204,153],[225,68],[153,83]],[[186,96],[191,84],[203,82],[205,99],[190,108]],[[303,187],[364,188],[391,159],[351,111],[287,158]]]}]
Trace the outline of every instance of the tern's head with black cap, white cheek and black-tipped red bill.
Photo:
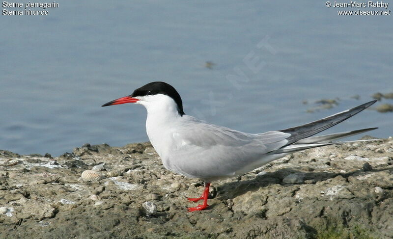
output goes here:
[{"label": "tern's head with black cap, white cheek and black-tipped red bill", "polygon": [[143,85],[134,90],[134,92],[125,97],[108,102],[102,106],[121,105],[125,103],[136,103],[149,109],[166,109],[173,108],[177,113],[184,115],[183,103],[179,93],[168,83],[154,81]]}]

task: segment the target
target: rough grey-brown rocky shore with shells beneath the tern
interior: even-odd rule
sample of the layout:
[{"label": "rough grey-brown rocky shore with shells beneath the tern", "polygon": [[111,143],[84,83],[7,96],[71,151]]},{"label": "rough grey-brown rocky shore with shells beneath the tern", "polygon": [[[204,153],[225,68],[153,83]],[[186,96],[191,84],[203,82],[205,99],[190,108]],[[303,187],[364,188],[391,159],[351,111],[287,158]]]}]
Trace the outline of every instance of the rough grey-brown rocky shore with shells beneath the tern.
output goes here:
[{"label": "rough grey-brown rocky shore with shells beneath the tern", "polygon": [[[85,170],[92,170],[84,173]],[[149,143],[85,144],[53,158],[0,151],[0,238],[393,238],[393,139],[294,153],[203,184]]]}]

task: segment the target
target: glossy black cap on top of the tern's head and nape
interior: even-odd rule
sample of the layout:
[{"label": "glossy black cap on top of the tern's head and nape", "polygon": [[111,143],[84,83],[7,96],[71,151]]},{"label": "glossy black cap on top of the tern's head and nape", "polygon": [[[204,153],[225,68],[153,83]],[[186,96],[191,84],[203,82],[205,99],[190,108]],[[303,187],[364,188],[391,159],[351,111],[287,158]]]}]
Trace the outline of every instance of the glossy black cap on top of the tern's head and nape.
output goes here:
[{"label": "glossy black cap on top of the tern's head and nape", "polygon": [[173,86],[163,81],[154,81],[145,84],[142,87],[134,90],[131,97],[157,95],[157,94],[167,95],[170,98],[172,98],[177,105],[177,111],[179,112],[179,114],[180,115],[185,114],[183,111],[183,102],[181,101],[179,93],[177,93],[177,91],[175,90],[175,88],[173,88]]}]

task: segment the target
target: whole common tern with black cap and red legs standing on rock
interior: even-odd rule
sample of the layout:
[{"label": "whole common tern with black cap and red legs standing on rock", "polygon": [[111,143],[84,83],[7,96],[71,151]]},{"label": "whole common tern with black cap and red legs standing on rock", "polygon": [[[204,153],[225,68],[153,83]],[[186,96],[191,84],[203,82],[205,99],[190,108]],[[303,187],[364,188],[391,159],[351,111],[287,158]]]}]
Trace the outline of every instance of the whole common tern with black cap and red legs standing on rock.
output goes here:
[{"label": "whole common tern with black cap and red legs standing on rock", "polygon": [[188,198],[192,202],[203,200],[203,204],[188,208],[193,212],[208,207],[207,199],[212,181],[245,174],[293,152],[354,142],[333,140],[377,129],[312,136],[337,125],[375,102],[370,101],[308,124],[266,133],[243,133],[189,116],[183,111],[179,93],[171,85],[161,81],[148,83],[131,95],[103,106],[136,103],[146,108],[146,132],[165,168],[204,181],[203,194],[198,198]]}]

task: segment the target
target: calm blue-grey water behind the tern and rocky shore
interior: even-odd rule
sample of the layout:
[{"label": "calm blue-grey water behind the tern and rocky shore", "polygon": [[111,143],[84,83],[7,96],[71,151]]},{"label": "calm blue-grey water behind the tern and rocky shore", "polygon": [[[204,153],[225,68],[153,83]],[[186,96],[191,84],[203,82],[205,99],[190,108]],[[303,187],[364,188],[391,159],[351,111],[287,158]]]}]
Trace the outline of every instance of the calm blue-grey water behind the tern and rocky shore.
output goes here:
[{"label": "calm blue-grey water behind the tern and rocky shore", "polygon": [[[337,16],[306,0],[68,0],[49,12],[1,16],[0,149],[59,155],[147,141],[142,106],[100,106],[154,80],[179,91],[186,114],[250,133],[393,91],[392,16]],[[239,70],[246,77],[228,80]],[[302,105],[336,97],[332,109]],[[365,110],[329,132],[374,126],[373,136],[393,135],[392,113]]]}]

